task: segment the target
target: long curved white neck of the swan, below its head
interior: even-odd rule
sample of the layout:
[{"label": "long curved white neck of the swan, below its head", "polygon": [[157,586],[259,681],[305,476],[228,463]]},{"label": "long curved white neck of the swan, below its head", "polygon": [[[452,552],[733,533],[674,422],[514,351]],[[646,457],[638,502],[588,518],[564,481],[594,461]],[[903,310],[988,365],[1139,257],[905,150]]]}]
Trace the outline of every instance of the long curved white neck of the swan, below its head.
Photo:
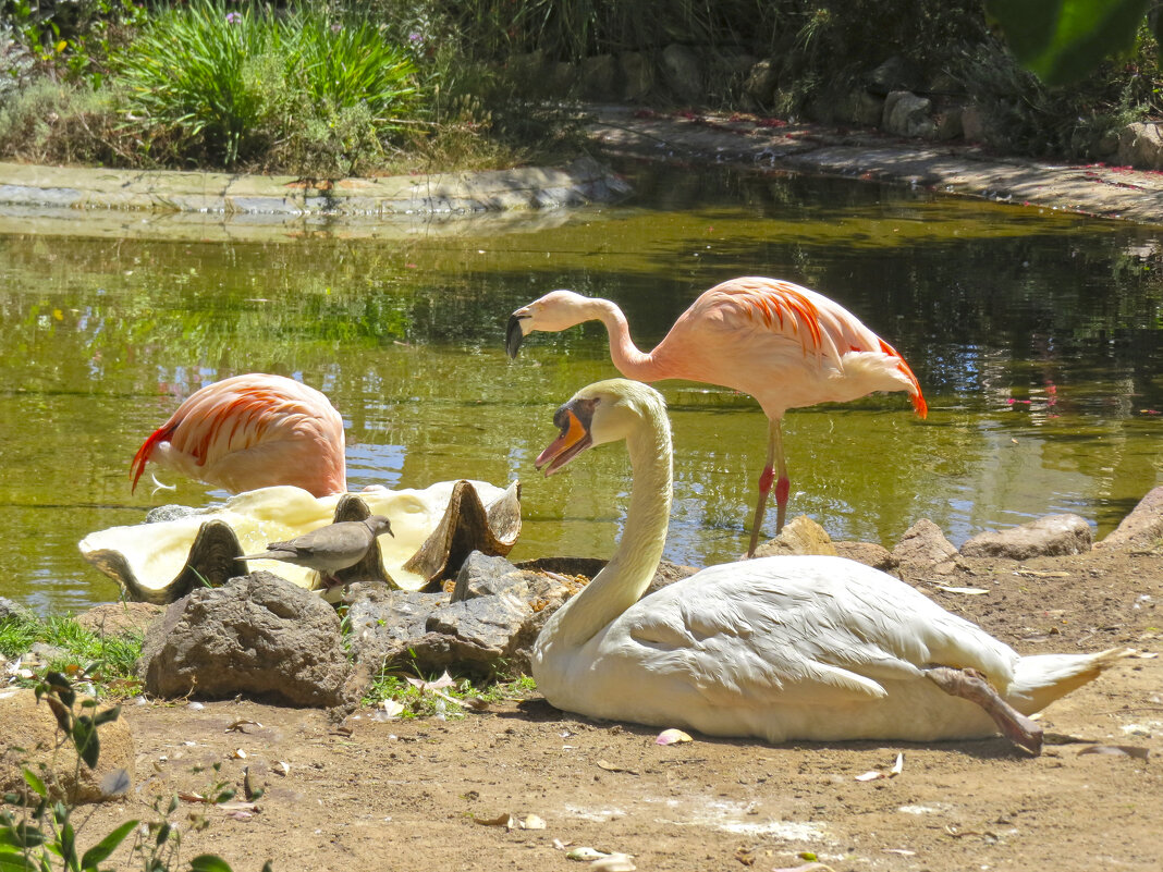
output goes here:
[{"label": "long curved white neck of the swan, below its head", "polygon": [[665,412],[642,420],[627,438],[634,485],[626,529],[593,581],[549,619],[542,635],[562,652],[580,648],[641,599],[650,586],[670,522],[671,448]]}]

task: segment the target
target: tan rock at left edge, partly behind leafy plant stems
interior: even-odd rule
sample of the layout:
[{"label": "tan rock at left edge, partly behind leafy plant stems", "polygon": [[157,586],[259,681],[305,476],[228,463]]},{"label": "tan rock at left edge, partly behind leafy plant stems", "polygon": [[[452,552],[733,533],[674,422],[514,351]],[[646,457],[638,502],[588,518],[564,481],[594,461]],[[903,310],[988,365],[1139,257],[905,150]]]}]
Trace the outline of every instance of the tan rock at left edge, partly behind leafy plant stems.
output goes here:
[{"label": "tan rock at left edge, partly behind leafy plant stems", "polygon": [[[81,710],[81,699],[78,696],[73,709],[77,713]],[[98,710],[106,708],[99,706]],[[77,759],[72,742],[60,743],[64,736],[48,703],[37,703],[30,689],[0,689],[0,736],[3,736],[0,794],[27,789],[21,769],[28,767],[41,775],[53,799],[74,805],[116,799],[124,792],[110,789],[110,782],[117,780],[116,773],[123,770],[130,779],[134,774],[133,735],[121,720],[102,723],[97,735],[100,755],[97,766],[90,769],[84,760]],[[42,771],[42,764],[48,769]]]}]

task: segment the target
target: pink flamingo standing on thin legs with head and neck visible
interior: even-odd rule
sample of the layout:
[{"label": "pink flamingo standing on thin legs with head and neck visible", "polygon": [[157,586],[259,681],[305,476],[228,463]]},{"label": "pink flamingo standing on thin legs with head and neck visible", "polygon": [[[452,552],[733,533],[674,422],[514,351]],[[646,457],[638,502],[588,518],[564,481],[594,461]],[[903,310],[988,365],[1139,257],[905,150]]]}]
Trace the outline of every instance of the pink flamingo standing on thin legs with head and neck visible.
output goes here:
[{"label": "pink flamingo standing on thin legs with head and neck visible", "polygon": [[787,513],[791,483],[779,429],[787,409],[847,402],[873,391],[907,391],[916,414],[928,414],[916,377],[889,343],[843,306],[790,281],[744,277],[716,285],[649,353],[634,345],[626,315],[609,300],[552,291],[509,316],[509,357],[516,357],[534,330],[564,330],[583,321],[606,326],[609,356],[628,378],[704,381],[758,400],[769,421],[768,463],[759,476],[748,557],[759,539],[776,470],[777,534]]}]

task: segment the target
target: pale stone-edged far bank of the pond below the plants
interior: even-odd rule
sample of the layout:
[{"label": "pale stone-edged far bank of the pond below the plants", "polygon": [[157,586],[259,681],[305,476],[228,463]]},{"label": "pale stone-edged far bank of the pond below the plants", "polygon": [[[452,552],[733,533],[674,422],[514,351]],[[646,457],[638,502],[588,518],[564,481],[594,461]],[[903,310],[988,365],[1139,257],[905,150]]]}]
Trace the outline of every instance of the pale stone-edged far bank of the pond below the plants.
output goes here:
[{"label": "pale stone-edged far bank of the pond below the plants", "polygon": [[[704,162],[923,187],[937,194],[1163,224],[1163,172],[989,153],[980,145],[759,116],[591,107],[601,155]],[[593,157],[565,166],[307,180],[291,176],[53,167],[0,162],[0,233],[247,241],[461,233],[464,220],[515,227],[568,220],[626,196]]]}]

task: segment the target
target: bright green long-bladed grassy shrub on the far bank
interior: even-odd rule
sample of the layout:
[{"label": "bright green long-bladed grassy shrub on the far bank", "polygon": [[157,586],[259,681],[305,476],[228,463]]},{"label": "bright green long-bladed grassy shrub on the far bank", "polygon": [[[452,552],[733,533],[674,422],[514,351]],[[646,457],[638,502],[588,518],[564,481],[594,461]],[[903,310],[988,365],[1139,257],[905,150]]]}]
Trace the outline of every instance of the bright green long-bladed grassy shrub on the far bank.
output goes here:
[{"label": "bright green long-bladed grassy shrub on the far bank", "polygon": [[415,67],[368,19],[231,8],[171,7],[112,58],[127,88],[123,123],[155,155],[234,167],[269,162],[273,149],[337,165],[399,133]]}]

